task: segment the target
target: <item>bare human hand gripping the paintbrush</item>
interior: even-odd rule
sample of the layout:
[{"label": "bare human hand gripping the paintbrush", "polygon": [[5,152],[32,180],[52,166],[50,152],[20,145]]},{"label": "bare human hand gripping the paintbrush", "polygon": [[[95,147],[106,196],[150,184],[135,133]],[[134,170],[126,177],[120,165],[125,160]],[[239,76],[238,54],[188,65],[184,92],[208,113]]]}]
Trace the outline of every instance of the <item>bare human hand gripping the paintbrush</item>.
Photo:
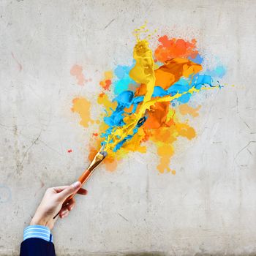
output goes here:
[{"label": "bare human hand gripping the paintbrush", "polygon": [[31,219],[30,225],[43,225],[49,227],[51,230],[58,219],[58,217],[55,219],[53,219],[53,217],[58,213],[61,219],[67,217],[69,211],[75,206],[74,198],[70,199],[69,202],[63,206],[66,198],[75,193],[80,195],[87,194],[87,190],[81,188],[81,186],[80,181],[76,181],[70,186],[50,187],[47,189],[34,217]]}]

